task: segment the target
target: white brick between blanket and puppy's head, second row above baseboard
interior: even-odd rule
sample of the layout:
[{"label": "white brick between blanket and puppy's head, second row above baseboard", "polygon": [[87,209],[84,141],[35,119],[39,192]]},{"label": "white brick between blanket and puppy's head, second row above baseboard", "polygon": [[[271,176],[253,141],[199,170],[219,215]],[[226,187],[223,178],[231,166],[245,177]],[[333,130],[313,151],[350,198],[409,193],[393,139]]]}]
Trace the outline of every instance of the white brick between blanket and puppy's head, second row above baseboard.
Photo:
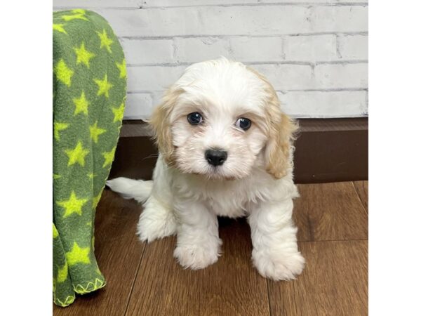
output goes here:
[{"label": "white brick between blanket and puppy's head, second row above baseboard", "polygon": [[186,67],[135,66],[127,67],[127,91],[162,91],[171,86]]}]

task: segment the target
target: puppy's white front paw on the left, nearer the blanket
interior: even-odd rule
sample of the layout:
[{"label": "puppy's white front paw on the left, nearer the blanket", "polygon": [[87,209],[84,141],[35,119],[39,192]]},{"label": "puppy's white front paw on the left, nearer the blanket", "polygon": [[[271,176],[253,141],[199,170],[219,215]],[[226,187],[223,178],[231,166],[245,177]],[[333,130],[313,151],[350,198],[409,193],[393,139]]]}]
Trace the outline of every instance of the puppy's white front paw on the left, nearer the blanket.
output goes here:
[{"label": "puppy's white front paw on the left, nearer the blanket", "polygon": [[218,261],[218,246],[213,249],[201,246],[177,246],[174,250],[174,257],[183,268],[193,270],[206,268]]}]

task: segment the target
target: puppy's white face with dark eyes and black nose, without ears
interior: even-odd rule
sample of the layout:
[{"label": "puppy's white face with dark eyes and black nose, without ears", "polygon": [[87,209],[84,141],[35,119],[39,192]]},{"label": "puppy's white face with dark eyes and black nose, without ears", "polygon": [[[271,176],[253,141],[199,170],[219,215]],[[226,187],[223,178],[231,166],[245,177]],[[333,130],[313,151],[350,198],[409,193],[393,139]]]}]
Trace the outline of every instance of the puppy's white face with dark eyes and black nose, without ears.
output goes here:
[{"label": "puppy's white face with dark eyes and black nose, without ears", "polygon": [[187,88],[171,115],[175,162],[184,172],[242,178],[266,143],[262,113],[248,106],[253,100],[250,93],[224,84],[216,93],[210,91],[209,82],[203,82],[196,87],[205,93],[202,96]]}]

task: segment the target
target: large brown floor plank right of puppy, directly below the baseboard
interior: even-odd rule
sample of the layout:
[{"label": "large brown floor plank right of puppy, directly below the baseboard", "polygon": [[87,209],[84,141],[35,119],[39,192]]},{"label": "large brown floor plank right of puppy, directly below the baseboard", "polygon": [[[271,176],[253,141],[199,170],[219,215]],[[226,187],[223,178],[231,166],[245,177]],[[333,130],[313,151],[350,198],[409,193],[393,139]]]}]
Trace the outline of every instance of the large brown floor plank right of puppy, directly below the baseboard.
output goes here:
[{"label": "large brown floor plank right of puppy, directly below the baseboard", "polygon": [[368,217],[352,182],[298,185],[299,241],[367,239]]}]

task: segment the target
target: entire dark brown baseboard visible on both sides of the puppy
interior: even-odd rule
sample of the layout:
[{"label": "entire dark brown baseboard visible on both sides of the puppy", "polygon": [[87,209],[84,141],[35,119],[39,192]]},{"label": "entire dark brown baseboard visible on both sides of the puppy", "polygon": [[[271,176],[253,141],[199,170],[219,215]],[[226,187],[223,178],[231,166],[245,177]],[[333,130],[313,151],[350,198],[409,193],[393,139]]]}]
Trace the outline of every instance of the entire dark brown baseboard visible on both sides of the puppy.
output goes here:
[{"label": "entire dark brown baseboard visible on both sides of the puppy", "polygon": [[[299,119],[295,182],[368,180],[368,118]],[[158,151],[143,121],[123,121],[109,178],[152,178]]]}]

